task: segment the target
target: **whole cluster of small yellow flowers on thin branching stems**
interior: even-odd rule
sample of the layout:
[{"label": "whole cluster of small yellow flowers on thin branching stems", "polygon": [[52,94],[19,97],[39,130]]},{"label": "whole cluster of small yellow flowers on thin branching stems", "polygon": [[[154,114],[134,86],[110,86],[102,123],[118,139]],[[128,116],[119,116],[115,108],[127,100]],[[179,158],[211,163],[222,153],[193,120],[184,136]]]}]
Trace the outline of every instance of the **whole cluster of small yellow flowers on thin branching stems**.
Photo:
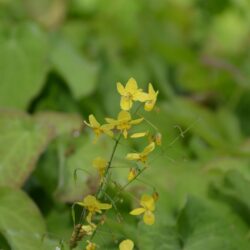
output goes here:
[{"label": "whole cluster of small yellow flowers on thin branching stems", "polygon": [[[96,223],[96,221],[98,221],[98,216],[96,215],[106,213],[108,210],[112,209],[112,207],[115,207],[115,203],[119,200],[117,197],[109,197],[109,203],[101,202],[101,200],[105,200],[103,194],[106,192],[106,185],[108,184],[108,180],[110,180],[107,176],[109,176],[113,156],[120,140],[128,140],[129,138],[136,139],[147,136],[147,141],[149,141],[142,151],[127,153],[124,157],[130,165],[127,177],[128,183],[124,186],[124,188],[136,180],[137,177],[141,175],[145,169],[147,169],[149,166],[149,155],[155,150],[156,146],[161,145],[161,134],[155,129],[154,126],[153,134],[148,131],[132,132],[135,126],[146,121],[146,119],[138,113],[140,107],[143,106],[146,112],[152,111],[156,104],[158,91],[155,91],[152,84],[149,83],[148,91],[144,92],[141,88],[138,88],[137,82],[134,78],[130,78],[125,86],[118,82],[117,91],[121,96],[121,110],[116,118],[105,118],[106,123],[101,124],[97,121],[95,116],[91,114],[88,117],[88,122],[85,121],[85,124],[90,127],[95,134],[95,143],[103,134],[112,137],[115,141],[113,152],[109,160],[99,156],[93,160],[93,167],[97,170],[100,178],[97,193],[95,195],[87,195],[82,201],[76,202],[76,204],[83,207],[83,218],[81,218],[81,221],[78,224],[80,227],[77,227],[77,230],[82,235],[91,237],[90,241],[87,241],[86,250],[95,250],[98,247],[94,242],[92,242],[98,227],[98,223]],[[132,112],[132,108],[135,106],[136,102],[139,102],[140,105],[137,106],[135,112]],[[151,123],[148,122],[148,124]],[[131,166],[131,162],[133,166]],[[118,194],[124,188],[122,187],[118,190]],[[130,214],[134,216],[143,215],[143,222],[146,225],[152,225],[155,222],[155,202],[156,196],[154,194],[143,194],[140,199],[140,207],[133,209]],[[86,221],[86,224],[84,224],[84,221]],[[100,221],[101,220],[99,220],[99,224],[101,224]],[[78,238],[77,233],[74,232],[74,239]],[[120,250],[132,250],[133,248],[134,242],[130,239],[123,240],[119,244]]]}]

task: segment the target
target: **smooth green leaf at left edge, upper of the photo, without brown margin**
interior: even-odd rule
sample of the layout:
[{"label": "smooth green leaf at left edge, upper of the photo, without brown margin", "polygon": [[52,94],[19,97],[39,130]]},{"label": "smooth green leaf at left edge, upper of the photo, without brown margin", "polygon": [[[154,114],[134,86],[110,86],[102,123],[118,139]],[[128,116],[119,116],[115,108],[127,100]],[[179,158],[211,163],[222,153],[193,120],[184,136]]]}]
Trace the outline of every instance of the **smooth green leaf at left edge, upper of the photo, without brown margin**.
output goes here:
[{"label": "smooth green leaf at left edge, upper of the photo, without brown margin", "polygon": [[0,44],[0,106],[25,109],[41,90],[47,41],[35,25],[23,25]]}]

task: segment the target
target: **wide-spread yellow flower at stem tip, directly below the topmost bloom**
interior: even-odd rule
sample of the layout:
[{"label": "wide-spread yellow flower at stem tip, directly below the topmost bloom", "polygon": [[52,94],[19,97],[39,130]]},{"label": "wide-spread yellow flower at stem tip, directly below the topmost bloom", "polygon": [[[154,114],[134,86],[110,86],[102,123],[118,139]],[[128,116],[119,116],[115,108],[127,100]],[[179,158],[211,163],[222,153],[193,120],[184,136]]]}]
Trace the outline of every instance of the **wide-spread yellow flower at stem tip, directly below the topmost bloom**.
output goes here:
[{"label": "wide-spread yellow flower at stem tip, directly below the topmost bloom", "polygon": [[136,120],[132,120],[131,115],[129,112],[122,110],[117,117],[117,120],[106,118],[105,119],[110,125],[115,127],[116,129],[120,130],[127,139],[128,137],[128,130],[132,127],[132,125],[137,125],[143,121],[143,118],[139,118]]}]

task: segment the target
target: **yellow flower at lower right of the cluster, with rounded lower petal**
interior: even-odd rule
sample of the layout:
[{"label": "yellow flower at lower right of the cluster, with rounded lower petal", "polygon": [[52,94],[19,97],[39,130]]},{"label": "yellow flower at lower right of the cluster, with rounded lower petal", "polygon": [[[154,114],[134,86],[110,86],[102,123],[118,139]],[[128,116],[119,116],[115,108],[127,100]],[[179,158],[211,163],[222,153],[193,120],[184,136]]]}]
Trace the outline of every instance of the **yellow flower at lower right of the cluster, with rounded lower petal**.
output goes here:
[{"label": "yellow flower at lower right of the cluster, with rounded lower petal", "polygon": [[143,214],[143,221],[147,225],[153,225],[155,222],[155,216],[153,211],[155,210],[155,200],[152,196],[144,194],[140,201],[141,207],[136,208],[130,212],[131,215]]}]

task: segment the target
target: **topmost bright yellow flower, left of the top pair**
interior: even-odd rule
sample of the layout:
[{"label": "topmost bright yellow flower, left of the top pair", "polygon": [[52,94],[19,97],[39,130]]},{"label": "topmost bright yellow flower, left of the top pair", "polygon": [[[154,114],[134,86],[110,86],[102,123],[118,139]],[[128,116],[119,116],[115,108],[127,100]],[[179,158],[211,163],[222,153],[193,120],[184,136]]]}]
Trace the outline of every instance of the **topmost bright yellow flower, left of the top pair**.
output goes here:
[{"label": "topmost bright yellow flower, left of the top pair", "polygon": [[130,110],[133,106],[133,101],[145,102],[148,98],[142,89],[138,89],[134,78],[130,78],[125,87],[118,82],[117,91],[121,95],[120,106],[122,110]]}]

